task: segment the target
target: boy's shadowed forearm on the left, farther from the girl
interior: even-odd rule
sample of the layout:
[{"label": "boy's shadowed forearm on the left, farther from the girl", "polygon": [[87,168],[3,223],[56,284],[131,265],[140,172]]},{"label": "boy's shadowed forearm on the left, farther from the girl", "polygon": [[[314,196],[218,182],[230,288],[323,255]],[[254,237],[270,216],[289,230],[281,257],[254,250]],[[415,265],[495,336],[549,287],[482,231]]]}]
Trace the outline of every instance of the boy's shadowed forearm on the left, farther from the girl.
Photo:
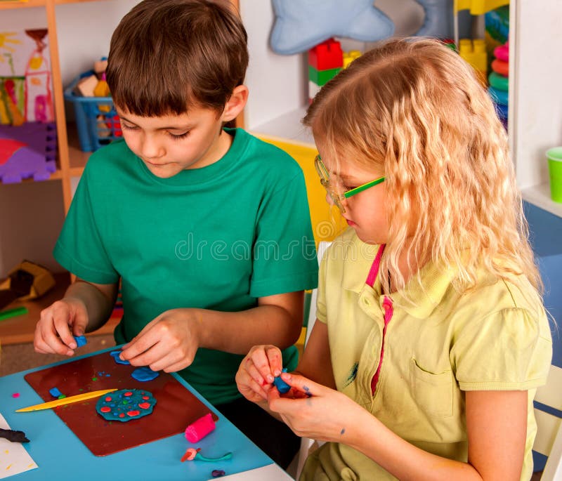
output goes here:
[{"label": "boy's shadowed forearm on the left, farther from the girl", "polygon": [[[116,294],[117,287],[115,287]],[[104,294],[95,285],[80,279],[70,284],[65,292],[65,298],[79,299],[86,306],[88,312],[86,332],[96,331],[107,322],[115,305],[115,295],[111,298],[112,293]]]}]

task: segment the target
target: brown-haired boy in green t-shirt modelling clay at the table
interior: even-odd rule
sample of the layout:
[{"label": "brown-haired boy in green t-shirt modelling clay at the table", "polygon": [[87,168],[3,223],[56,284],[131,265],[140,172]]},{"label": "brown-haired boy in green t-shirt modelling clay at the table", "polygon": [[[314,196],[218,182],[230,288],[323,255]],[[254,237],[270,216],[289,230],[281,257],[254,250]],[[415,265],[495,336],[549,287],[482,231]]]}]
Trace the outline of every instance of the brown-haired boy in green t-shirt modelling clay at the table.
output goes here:
[{"label": "brown-haired boy in green t-shirt modelling clay at the table", "polygon": [[298,439],[267,414],[256,423],[261,409],[240,397],[235,373],[258,343],[287,348],[294,369],[318,268],[299,167],[223,129],[246,103],[247,62],[228,4],[145,0],[122,19],[107,83],[124,141],[84,170],[54,251],[78,282],[41,313],[35,348],[72,355],[73,334],[107,321],[121,279],[122,358],[179,371],[286,467]]}]

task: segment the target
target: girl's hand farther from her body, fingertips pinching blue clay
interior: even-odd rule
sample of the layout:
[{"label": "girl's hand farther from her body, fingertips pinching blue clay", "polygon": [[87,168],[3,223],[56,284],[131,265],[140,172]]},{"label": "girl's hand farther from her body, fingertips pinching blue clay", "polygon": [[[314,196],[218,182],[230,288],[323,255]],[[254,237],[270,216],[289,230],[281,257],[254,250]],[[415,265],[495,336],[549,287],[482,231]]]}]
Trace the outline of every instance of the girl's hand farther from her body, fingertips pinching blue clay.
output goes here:
[{"label": "girl's hand farther from her body, fingertips pinching blue clay", "polygon": [[[275,345],[254,345],[244,357],[236,373],[240,393],[251,402],[263,402],[273,388],[273,379],[280,376],[282,356]],[[278,393],[277,389],[275,391]]]}]

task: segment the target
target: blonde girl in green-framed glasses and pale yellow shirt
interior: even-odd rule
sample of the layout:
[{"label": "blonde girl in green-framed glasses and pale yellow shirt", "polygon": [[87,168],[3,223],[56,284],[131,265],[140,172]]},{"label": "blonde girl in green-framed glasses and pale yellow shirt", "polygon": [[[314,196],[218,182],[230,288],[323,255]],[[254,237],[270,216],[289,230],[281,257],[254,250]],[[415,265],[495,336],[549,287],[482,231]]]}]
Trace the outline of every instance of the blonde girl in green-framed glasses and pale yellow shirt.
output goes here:
[{"label": "blonde girl in green-framed glasses and pale yellow shirt", "polygon": [[471,67],[394,39],[316,96],[304,123],[351,228],[320,266],[318,321],[281,377],[252,348],[240,392],[327,441],[301,480],[528,480],[551,337],[507,138]]}]

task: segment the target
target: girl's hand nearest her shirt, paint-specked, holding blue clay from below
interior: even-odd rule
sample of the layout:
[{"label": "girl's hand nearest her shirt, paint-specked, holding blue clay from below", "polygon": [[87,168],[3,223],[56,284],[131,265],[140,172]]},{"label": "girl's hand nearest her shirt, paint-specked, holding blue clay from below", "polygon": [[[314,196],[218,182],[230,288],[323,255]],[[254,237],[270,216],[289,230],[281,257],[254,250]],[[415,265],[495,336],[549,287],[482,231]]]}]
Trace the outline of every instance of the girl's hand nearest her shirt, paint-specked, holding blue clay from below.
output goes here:
[{"label": "girl's hand nearest her shirt, paint-specked, holding blue clay from below", "polygon": [[281,378],[292,387],[292,396],[280,397],[276,389],[270,390],[269,409],[298,436],[351,444],[355,426],[360,426],[365,416],[372,417],[346,395],[304,376],[283,373]]}]

